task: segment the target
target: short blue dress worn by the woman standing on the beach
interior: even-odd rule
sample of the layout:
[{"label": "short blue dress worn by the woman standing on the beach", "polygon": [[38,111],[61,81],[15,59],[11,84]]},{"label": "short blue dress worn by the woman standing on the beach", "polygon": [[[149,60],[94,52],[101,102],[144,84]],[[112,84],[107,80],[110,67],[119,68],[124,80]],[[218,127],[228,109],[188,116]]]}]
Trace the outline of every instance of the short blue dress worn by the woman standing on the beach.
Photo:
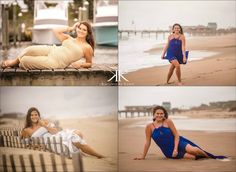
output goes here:
[{"label": "short blue dress worn by the woman standing on the beach", "polygon": [[[186,51],[186,58],[188,58],[188,54],[189,51]],[[187,63],[187,61],[185,63],[183,62],[182,41],[179,38],[173,38],[170,40],[165,59],[169,60],[169,62],[172,60],[178,60],[179,64]]]}]

